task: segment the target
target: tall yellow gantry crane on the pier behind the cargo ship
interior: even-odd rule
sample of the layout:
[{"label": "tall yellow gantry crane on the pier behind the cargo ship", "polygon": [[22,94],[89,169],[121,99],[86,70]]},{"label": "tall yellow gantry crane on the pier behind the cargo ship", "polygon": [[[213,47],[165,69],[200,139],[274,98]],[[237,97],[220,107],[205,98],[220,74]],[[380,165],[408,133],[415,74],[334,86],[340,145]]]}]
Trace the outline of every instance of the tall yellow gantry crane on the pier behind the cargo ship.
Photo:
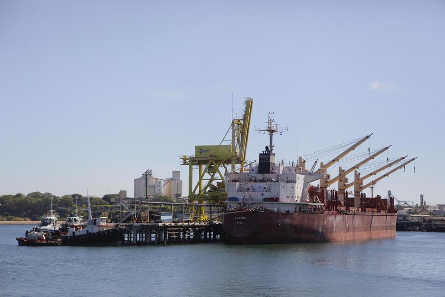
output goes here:
[{"label": "tall yellow gantry crane on the pier behind the cargo ship", "polygon": [[[246,167],[252,105],[253,99],[245,98],[242,118],[232,119],[230,127],[219,145],[195,146],[194,155],[180,157],[181,165],[188,166],[189,201],[221,202],[227,198],[224,174],[235,171],[236,165],[240,165],[240,172],[243,172]],[[231,132],[231,138],[227,139],[229,132]],[[230,144],[223,145],[225,141]],[[196,168],[198,169],[198,180],[194,183],[193,169]]]}]

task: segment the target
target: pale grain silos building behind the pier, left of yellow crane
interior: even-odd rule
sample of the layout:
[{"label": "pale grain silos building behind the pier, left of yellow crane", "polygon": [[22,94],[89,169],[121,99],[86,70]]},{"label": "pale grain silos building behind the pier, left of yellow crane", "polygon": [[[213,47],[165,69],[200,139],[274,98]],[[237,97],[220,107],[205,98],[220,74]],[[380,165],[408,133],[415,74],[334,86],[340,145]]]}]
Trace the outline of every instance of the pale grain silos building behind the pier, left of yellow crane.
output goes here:
[{"label": "pale grain silos building behind the pier, left of yellow crane", "polygon": [[162,179],[154,177],[153,171],[147,169],[141,177],[134,179],[134,198],[153,197],[154,195],[181,197],[180,171],[174,170],[172,178]]}]

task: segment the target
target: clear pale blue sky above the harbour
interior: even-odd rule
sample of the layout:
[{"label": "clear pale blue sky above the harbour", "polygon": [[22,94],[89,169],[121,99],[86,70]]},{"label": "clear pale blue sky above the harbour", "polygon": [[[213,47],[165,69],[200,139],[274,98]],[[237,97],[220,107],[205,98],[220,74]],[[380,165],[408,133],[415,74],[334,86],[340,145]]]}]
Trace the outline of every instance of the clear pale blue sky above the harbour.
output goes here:
[{"label": "clear pale blue sky above the harbour", "polygon": [[419,156],[377,194],[445,203],[444,1],[240,2],[0,0],[0,194],[132,196],[147,168],[186,194],[179,156],[220,142],[233,93],[289,127],[279,159],[374,133]]}]

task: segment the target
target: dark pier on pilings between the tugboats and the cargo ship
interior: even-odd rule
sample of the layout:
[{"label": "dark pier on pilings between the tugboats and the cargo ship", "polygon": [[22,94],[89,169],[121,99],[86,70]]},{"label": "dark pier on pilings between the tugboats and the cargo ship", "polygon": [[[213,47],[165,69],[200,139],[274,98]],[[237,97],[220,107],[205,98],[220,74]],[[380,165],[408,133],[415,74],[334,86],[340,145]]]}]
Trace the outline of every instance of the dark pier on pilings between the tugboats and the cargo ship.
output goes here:
[{"label": "dark pier on pilings between the tugboats and the cargo ship", "polygon": [[[158,202],[121,199],[124,210],[119,226],[123,245],[159,245],[224,241],[223,204]],[[196,213],[196,210],[203,211]],[[162,215],[169,216],[163,219]],[[174,218],[175,216],[175,218]],[[203,217],[207,220],[201,220]]]}]

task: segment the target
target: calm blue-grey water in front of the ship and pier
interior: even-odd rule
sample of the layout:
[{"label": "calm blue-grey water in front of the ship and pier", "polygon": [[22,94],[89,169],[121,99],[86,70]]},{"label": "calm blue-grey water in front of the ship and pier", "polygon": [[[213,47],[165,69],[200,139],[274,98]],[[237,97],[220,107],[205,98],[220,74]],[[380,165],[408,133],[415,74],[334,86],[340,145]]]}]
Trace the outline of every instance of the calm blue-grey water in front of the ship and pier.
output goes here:
[{"label": "calm blue-grey water in front of the ship and pier", "polygon": [[18,247],[0,225],[0,296],[445,296],[445,233],[347,244]]}]

